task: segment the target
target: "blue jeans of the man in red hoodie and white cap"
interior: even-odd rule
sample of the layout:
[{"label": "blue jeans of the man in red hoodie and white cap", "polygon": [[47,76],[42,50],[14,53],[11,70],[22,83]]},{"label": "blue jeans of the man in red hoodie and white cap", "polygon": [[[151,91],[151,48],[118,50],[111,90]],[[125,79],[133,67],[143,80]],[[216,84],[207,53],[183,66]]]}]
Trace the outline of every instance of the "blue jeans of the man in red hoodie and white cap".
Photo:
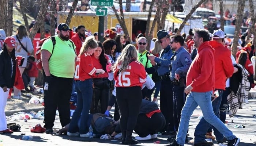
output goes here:
[{"label": "blue jeans of the man in red hoodie and white cap", "polygon": [[[214,101],[212,101],[212,108],[214,111],[214,114],[219,118],[219,107],[221,105],[221,101],[222,101],[222,95],[223,95],[223,90],[222,89],[215,89],[218,90],[219,92],[219,97],[216,98]],[[210,128],[210,132],[211,129],[213,128],[214,130],[214,135],[216,136],[216,140],[220,141],[223,139],[223,134],[221,134],[215,127],[211,127],[211,124],[206,122],[206,120],[204,119],[204,117],[200,120],[200,122],[197,124],[196,129],[195,129],[195,143],[201,143],[204,141],[205,138],[205,134],[208,129]]]}]

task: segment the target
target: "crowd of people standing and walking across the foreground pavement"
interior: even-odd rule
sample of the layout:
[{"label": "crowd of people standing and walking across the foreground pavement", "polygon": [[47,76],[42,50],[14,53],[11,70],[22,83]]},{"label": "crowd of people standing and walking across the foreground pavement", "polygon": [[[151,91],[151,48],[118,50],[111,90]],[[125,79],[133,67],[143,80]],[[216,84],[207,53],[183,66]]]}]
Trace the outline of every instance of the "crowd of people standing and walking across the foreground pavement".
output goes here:
[{"label": "crowd of people standing and walking across the foreground pavement", "polygon": [[[60,23],[54,36],[55,44],[52,39],[46,39],[41,46],[43,122],[47,134],[53,132],[58,109],[63,127],[60,134],[89,137],[92,125],[95,134],[114,137],[121,133],[123,144],[154,139],[157,132],[161,132],[176,135],[170,140],[170,146],[184,146],[188,142],[189,117],[199,105],[204,116],[196,127],[194,145],[213,145],[205,140],[215,139],[213,130],[217,143],[237,146],[240,139],[224,122],[229,107],[232,114],[242,108],[241,104],[238,107],[232,102],[236,94],[244,92],[246,102],[246,93],[254,85],[250,61],[254,45],[250,39],[245,41],[241,37],[241,46],[234,58],[222,30],[211,34],[194,28],[188,35],[159,30],[149,51],[143,34],[136,37],[136,45],[132,45],[127,36],[117,34],[115,28],[105,31],[103,42],[97,40],[97,35],[97,32],[87,32],[83,25],[73,34],[67,24]],[[35,57],[28,56],[32,52],[25,26],[20,26],[16,35],[4,39],[0,52],[0,60],[5,62],[0,65],[0,95],[4,97],[0,102],[0,131],[3,133],[12,133],[3,115],[10,89],[14,88],[13,98],[20,97],[20,88],[15,85],[17,74],[21,76],[26,70],[30,81],[25,89],[35,89],[33,83],[38,70]],[[17,56],[27,59],[18,66]],[[241,88],[231,84],[237,80]],[[77,105],[70,118],[69,100],[74,92]],[[112,117],[109,111],[113,105]],[[139,135],[135,139],[133,131]]]}]

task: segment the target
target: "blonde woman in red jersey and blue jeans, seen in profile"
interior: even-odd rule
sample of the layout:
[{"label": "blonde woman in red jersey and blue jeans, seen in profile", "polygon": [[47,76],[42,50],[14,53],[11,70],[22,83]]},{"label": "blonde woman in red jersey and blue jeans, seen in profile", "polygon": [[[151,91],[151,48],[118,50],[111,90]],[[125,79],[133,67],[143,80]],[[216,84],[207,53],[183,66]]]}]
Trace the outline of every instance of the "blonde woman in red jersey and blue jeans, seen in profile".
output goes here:
[{"label": "blonde woman in red jersey and blue jeans, seen in profile", "polygon": [[[91,107],[91,100],[93,98],[93,79],[96,73],[105,73],[103,69],[96,69],[93,65],[91,55],[97,49],[98,43],[94,36],[86,38],[80,53],[76,60],[76,70],[74,75],[75,89],[77,92],[77,107],[72,116],[68,136],[87,137],[88,128],[84,124],[88,119],[88,113]],[[78,119],[81,116],[80,128],[78,128]]]}]

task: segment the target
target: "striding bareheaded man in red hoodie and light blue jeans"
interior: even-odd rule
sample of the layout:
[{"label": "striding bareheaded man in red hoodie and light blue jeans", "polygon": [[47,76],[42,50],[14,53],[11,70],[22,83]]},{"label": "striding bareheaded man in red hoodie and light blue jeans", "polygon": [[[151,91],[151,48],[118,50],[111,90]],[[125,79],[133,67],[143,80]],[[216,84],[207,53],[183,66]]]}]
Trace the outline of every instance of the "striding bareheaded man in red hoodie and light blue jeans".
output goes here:
[{"label": "striding bareheaded man in red hoodie and light blue jeans", "polygon": [[210,35],[207,30],[194,28],[194,46],[198,53],[187,73],[187,87],[185,93],[187,100],[181,111],[180,126],[176,139],[169,146],[184,146],[187,135],[190,116],[199,105],[204,119],[216,127],[229,141],[228,146],[237,146],[239,138],[233,135],[225,124],[214,114],[211,104],[211,96],[215,85],[215,50],[209,45]]}]

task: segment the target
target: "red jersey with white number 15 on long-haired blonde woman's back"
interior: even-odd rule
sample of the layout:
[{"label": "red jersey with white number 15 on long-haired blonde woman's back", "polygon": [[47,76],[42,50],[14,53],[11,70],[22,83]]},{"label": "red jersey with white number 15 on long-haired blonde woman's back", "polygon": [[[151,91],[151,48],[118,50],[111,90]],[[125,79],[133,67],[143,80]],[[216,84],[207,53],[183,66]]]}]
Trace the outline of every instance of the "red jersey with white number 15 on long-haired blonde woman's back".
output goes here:
[{"label": "red jersey with white number 15 on long-haired blonde woman's back", "polygon": [[117,76],[117,70],[114,72],[114,80],[116,87],[133,87],[140,86],[146,82],[146,71],[144,66],[138,61],[132,61],[127,66],[127,69],[124,72],[120,72]]}]

